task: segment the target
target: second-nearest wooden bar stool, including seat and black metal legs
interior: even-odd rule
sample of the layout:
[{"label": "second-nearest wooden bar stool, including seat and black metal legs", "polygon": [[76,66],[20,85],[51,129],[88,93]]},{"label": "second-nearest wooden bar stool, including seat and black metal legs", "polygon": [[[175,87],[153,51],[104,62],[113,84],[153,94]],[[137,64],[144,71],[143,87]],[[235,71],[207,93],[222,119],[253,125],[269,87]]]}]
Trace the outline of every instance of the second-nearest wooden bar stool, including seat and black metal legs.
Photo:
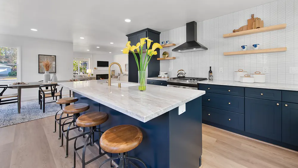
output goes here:
[{"label": "second-nearest wooden bar stool, including seat and black metal legs", "polygon": [[[99,148],[99,154],[98,156],[96,156],[95,158],[89,160],[89,161],[85,161],[85,152],[86,152],[86,147],[88,145],[93,146],[93,144],[97,141],[99,141],[99,139],[96,139],[94,141],[94,132],[99,132],[100,134],[103,133],[102,131],[100,131],[100,128],[96,128],[97,125],[103,124],[105,121],[107,121],[109,118],[108,114],[105,112],[89,112],[86,114],[81,115],[80,117],[77,118],[76,124],[78,127],[89,127],[90,131],[89,132],[83,132],[82,134],[80,134],[77,138],[79,138],[80,136],[88,135],[88,138],[85,141],[85,144],[83,146],[80,147],[76,147],[76,143],[77,143],[77,138],[75,139],[75,144],[74,144],[74,168],[75,168],[75,158],[76,158],[76,154],[78,155],[80,161],[82,162],[82,168],[85,168],[85,166],[89,163],[91,163],[92,161],[95,161],[96,159],[102,157],[103,155],[107,154],[107,152],[101,153],[101,148]],[[90,142],[88,143],[90,139]],[[83,148],[83,154],[82,154],[82,158],[80,157],[80,155],[77,153],[77,150],[82,149]]]}]

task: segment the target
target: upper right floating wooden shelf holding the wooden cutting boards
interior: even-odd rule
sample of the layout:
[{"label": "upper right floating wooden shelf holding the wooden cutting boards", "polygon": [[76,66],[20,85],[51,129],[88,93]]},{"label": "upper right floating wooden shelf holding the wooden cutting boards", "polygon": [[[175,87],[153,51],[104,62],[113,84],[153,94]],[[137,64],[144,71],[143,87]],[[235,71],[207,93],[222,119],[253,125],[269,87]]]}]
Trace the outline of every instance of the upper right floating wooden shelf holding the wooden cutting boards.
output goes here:
[{"label": "upper right floating wooden shelf holding the wooden cutting boards", "polygon": [[258,29],[245,30],[245,31],[241,31],[241,32],[224,34],[224,38],[244,36],[244,35],[269,32],[269,31],[274,31],[274,30],[281,30],[281,29],[285,29],[285,27],[287,27],[287,24],[278,24],[278,25],[262,27],[262,28],[258,28]]}]

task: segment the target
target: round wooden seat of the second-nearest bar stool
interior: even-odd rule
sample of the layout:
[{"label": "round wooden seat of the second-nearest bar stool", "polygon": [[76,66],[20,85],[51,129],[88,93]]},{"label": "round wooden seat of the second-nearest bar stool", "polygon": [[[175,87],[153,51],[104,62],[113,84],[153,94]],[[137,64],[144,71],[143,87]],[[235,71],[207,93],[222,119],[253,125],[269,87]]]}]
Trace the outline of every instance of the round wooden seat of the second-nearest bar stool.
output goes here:
[{"label": "round wooden seat of the second-nearest bar stool", "polygon": [[76,124],[79,127],[93,127],[103,124],[109,118],[105,112],[88,112],[77,118]]}]

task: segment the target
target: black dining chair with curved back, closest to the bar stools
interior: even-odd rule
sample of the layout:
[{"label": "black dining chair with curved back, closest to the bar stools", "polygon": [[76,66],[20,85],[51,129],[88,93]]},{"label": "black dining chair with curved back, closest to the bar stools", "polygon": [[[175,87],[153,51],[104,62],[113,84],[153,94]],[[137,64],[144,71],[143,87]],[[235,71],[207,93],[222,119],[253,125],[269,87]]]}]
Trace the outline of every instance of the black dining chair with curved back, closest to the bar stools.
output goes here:
[{"label": "black dining chair with curved back, closest to the bar stools", "polygon": [[[55,92],[56,91],[56,86],[58,86],[57,84],[45,84],[45,85],[40,85],[39,86],[39,90],[41,91],[40,93],[40,109],[42,109],[43,107],[43,112],[45,111],[45,104],[46,103],[53,103],[57,101],[57,97],[59,96],[59,98],[62,98],[62,89],[63,87],[61,87],[61,90],[59,92]],[[46,87],[50,88],[51,93],[45,93],[44,90],[47,90]],[[56,101],[51,101],[51,102],[45,102],[46,98],[55,98],[56,97]],[[60,106],[62,109],[62,105]]]}]

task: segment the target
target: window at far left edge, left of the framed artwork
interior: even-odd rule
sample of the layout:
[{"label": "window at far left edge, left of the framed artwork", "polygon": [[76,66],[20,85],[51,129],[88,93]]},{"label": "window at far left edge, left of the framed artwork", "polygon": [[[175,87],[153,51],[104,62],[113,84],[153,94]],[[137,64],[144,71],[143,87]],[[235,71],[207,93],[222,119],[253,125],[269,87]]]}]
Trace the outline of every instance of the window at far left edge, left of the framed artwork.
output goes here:
[{"label": "window at far left edge, left of the framed artwork", "polygon": [[0,82],[16,82],[18,68],[18,49],[0,47]]}]

